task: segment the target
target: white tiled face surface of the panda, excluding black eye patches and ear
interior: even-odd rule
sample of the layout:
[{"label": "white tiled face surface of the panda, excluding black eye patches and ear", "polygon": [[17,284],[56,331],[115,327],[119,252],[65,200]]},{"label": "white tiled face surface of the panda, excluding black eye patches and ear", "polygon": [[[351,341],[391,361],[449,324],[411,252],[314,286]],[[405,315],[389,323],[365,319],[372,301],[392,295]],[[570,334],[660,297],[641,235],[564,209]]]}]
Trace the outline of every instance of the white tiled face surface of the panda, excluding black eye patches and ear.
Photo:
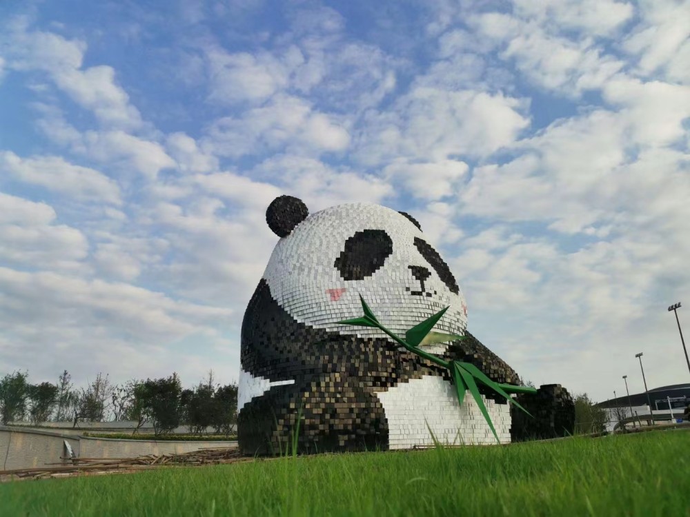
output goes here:
[{"label": "white tiled face surface of the panda, excluding black eye patches and ear", "polygon": [[[335,262],[346,251],[348,239],[365,230],[384,232],[393,250],[373,274],[346,280]],[[376,234],[382,236],[379,232]],[[264,278],[273,298],[288,314],[315,328],[383,337],[377,329],[337,325],[337,321],[359,316],[361,294],[381,323],[395,334],[404,335],[408,328],[450,306],[435,330],[462,336],[467,323],[464,296],[440,278],[417,249],[415,238],[425,240],[413,223],[390,208],[364,203],[327,208],[309,216],[277,243]],[[360,252],[359,261],[364,263],[368,259],[363,248]],[[424,288],[410,266],[431,272]],[[342,290],[337,301],[329,294],[334,289]]]}]

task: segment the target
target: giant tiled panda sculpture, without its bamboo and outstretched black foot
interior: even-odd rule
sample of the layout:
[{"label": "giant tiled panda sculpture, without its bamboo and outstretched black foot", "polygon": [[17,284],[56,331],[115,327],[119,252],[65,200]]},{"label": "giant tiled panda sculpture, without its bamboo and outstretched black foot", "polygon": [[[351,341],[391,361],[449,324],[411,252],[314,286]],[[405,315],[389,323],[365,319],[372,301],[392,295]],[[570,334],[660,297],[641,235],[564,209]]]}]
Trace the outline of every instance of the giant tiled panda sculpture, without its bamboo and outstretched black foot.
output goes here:
[{"label": "giant tiled panda sculpture, without its bamboo and outstretched black foot", "polygon": [[[309,215],[299,199],[280,196],[266,221],[280,240],[242,322],[237,429],[244,454],[280,454],[293,437],[300,452],[495,443],[473,398],[458,405],[446,369],[378,329],[337,323],[362,315],[362,295],[399,336],[444,307],[434,330],[466,334],[457,279],[412,216],[364,203]],[[519,383],[469,334],[426,351]],[[482,396],[500,441],[511,441],[509,405],[489,390]]]}]

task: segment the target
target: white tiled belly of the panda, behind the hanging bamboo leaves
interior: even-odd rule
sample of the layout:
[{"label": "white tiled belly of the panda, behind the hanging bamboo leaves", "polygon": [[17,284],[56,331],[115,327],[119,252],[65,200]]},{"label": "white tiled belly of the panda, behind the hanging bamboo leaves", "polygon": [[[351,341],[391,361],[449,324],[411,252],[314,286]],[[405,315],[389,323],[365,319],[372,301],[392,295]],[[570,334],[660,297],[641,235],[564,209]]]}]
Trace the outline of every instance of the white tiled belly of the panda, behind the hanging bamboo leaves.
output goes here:
[{"label": "white tiled belly of the panda, behind the hanging bamboo leaves", "polygon": [[[443,445],[491,445],[496,439],[472,394],[457,404],[455,386],[438,376],[423,376],[377,393],[388,420],[391,449],[433,446],[433,432]],[[511,441],[511,410],[482,396],[501,443]]]}]

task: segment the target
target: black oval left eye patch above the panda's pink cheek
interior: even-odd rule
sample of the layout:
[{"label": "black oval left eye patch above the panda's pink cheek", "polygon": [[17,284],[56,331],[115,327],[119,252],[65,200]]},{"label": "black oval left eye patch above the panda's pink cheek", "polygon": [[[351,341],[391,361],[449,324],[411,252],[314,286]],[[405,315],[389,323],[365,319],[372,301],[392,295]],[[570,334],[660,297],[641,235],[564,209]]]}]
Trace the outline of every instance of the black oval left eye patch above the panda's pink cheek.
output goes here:
[{"label": "black oval left eye patch above the panda's pink cheek", "polygon": [[393,253],[393,239],[384,230],[362,230],[347,241],[333,266],[343,280],[362,280],[384,265]]}]

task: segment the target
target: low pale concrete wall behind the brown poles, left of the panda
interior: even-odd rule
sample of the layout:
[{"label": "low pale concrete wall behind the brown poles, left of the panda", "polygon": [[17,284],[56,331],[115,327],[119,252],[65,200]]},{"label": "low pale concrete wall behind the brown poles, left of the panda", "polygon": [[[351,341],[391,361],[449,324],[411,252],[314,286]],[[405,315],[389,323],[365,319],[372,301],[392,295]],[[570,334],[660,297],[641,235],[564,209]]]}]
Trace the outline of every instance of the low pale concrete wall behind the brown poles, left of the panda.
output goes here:
[{"label": "low pale concrete wall behind the brown poles, left of the panda", "polygon": [[65,463],[65,442],[79,458],[132,458],[146,454],[181,454],[199,449],[237,447],[235,441],[112,440],[74,436],[41,429],[0,426],[0,470],[41,467]]}]

